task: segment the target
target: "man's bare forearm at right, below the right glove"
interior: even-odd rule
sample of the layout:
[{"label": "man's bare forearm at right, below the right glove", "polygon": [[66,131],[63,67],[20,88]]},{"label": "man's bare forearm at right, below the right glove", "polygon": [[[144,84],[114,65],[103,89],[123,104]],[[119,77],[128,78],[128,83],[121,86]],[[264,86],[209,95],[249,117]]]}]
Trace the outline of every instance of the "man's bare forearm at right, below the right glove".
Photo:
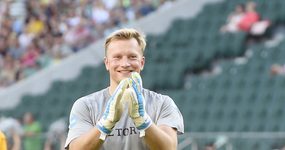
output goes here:
[{"label": "man's bare forearm at right, below the right glove", "polygon": [[148,147],[152,150],[175,150],[177,147],[177,139],[173,139],[166,132],[158,128],[154,123],[146,129],[146,135],[143,137]]}]

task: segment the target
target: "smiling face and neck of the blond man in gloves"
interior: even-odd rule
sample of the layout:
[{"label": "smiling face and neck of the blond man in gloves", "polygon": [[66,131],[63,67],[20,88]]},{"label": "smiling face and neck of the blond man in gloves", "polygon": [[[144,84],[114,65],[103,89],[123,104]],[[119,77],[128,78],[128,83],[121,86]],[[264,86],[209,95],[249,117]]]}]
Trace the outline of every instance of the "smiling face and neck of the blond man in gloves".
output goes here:
[{"label": "smiling face and neck of the blond man in gloves", "polygon": [[110,86],[117,86],[122,79],[131,77],[132,72],[140,73],[145,57],[135,38],[114,39],[108,45],[104,61],[110,72]]}]

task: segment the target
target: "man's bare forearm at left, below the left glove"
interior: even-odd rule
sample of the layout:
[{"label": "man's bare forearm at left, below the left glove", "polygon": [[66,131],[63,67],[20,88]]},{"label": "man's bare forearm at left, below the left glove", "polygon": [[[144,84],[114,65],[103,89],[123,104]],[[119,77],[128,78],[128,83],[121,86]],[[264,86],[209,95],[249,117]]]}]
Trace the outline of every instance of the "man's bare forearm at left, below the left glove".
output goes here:
[{"label": "man's bare forearm at left, below the left glove", "polygon": [[101,132],[97,126],[84,133],[80,137],[73,139],[69,144],[69,150],[97,150],[100,149],[104,141],[99,139]]}]

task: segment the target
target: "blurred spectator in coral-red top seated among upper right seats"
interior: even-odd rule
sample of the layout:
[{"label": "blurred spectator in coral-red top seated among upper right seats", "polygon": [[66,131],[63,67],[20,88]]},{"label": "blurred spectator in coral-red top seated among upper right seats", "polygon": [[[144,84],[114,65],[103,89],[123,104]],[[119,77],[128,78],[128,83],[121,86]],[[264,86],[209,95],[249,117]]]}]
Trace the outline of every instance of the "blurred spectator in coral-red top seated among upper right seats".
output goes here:
[{"label": "blurred spectator in coral-red top seated among upper right seats", "polygon": [[259,14],[256,12],[256,4],[252,1],[246,3],[246,13],[243,15],[238,27],[242,31],[250,31],[251,26],[259,21]]}]

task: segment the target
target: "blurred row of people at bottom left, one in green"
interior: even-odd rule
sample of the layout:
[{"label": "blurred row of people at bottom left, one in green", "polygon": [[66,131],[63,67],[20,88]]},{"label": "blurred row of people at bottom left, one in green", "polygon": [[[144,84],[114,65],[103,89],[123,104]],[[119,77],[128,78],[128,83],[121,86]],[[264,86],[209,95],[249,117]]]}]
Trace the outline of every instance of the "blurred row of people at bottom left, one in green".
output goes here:
[{"label": "blurred row of people at bottom left, one in green", "polygon": [[21,119],[0,118],[1,150],[55,150],[64,149],[68,125],[60,118],[51,123],[47,133],[42,133],[42,125],[31,112]]}]

